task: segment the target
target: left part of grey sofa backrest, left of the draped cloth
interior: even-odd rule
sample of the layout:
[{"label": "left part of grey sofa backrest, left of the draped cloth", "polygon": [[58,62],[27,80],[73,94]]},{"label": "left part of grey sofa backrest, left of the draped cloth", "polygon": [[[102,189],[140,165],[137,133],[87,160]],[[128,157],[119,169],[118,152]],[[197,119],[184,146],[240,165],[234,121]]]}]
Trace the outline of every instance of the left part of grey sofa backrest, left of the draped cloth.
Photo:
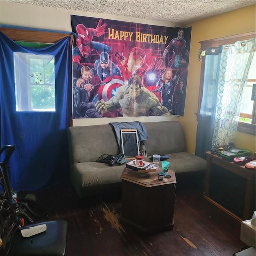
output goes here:
[{"label": "left part of grey sofa backrest, left of the draped cloth", "polygon": [[68,128],[70,165],[95,162],[102,154],[118,154],[118,145],[109,124]]}]

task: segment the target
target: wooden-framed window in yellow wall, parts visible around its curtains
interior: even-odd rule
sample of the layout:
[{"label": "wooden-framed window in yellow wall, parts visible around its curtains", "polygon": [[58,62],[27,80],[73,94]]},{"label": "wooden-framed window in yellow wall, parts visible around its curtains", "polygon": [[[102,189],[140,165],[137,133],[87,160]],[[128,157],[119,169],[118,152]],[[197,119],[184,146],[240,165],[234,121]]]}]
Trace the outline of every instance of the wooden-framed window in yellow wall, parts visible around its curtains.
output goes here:
[{"label": "wooden-framed window in yellow wall, parts visible around its curtains", "polygon": [[[246,40],[255,37],[255,32],[249,32],[245,34],[239,34],[234,36],[228,36],[224,38],[216,38],[212,40],[206,40],[200,42],[201,50],[205,51],[208,47],[219,47],[223,44],[232,44],[236,41]],[[204,84],[204,69],[205,69],[205,58],[202,58],[201,66],[201,79],[200,79],[200,90],[199,90],[199,100],[198,100],[198,112],[202,103],[202,90]],[[238,122],[238,131],[246,132],[255,135],[255,100],[251,100],[253,95],[253,84],[256,83],[256,54],[254,54],[254,59],[252,61],[248,83],[246,85],[246,91],[243,96],[242,106],[240,108],[240,120]],[[254,92],[255,96],[255,92]],[[198,114],[198,113],[196,113]]]}]

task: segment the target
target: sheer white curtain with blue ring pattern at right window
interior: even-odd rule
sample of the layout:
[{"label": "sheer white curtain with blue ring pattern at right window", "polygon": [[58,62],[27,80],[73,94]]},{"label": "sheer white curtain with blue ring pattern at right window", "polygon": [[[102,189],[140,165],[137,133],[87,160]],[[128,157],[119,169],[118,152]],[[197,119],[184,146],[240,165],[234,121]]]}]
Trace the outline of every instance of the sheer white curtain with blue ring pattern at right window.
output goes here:
[{"label": "sheer white curtain with blue ring pattern at right window", "polygon": [[255,46],[252,38],[222,47],[212,144],[234,142]]}]

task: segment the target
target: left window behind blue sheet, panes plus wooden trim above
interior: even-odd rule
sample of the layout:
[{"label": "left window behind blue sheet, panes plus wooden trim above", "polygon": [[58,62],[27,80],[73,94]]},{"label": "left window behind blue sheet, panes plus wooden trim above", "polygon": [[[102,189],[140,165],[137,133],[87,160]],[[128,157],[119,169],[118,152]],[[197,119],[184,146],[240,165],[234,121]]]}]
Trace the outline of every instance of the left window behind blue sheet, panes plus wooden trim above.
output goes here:
[{"label": "left window behind blue sheet, panes plus wooden trim above", "polygon": [[[32,48],[45,47],[47,44],[54,44],[60,39],[69,36],[71,38],[70,51],[72,50],[73,36],[70,32],[56,33],[8,28],[4,26],[0,26],[0,31],[6,34],[6,36],[10,37],[16,43]],[[20,59],[20,66],[18,63],[18,58]],[[34,63],[37,62],[36,58],[38,58],[38,62],[41,63],[40,66],[38,66],[38,70],[33,69],[33,67],[30,65],[30,60]],[[52,59],[52,56],[45,55],[36,55],[36,58],[35,56],[20,56],[17,58],[14,56],[14,68],[16,68],[15,86],[17,111],[55,111],[55,75],[50,75],[49,73],[50,70],[54,70],[52,69],[54,67],[54,58]],[[22,66],[21,61],[23,62],[24,66]],[[18,71],[20,68],[22,68],[22,72]],[[37,81],[34,80],[33,82],[31,79],[30,74],[33,75],[35,72],[40,72],[43,74],[43,79],[40,79],[42,80],[41,84],[36,84]],[[42,95],[40,96],[38,92],[42,92]],[[23,96],[26,97],[23,98]]]}]

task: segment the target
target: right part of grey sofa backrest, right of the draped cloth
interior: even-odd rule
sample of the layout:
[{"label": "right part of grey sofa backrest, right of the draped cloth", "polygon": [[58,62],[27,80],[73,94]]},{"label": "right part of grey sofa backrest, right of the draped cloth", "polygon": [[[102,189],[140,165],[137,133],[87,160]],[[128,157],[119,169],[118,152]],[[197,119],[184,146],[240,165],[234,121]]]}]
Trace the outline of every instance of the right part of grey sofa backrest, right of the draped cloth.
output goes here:
[{"label": "right part of grey sofa backrest, right of the draped cloth", "polygon": [[148,156],[185,152],[184,135],[180,122],[161,121],[144,123],[148,133],[145,141]]}]

